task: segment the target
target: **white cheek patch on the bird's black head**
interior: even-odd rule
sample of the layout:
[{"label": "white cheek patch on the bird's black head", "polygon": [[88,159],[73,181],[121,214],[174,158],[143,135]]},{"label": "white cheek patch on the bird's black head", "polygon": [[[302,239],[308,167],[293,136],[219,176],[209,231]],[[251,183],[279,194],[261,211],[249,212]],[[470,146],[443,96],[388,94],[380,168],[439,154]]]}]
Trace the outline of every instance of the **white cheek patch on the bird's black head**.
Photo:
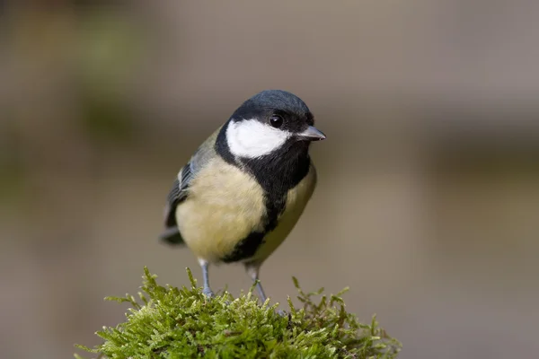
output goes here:
[{"label": "white cheek patch on the bird's black head", "polygon": [[265,125],[256,119],[230,121],[226,141],[230,152],[238,157],[256,158],[277,150],[292,134]]}]

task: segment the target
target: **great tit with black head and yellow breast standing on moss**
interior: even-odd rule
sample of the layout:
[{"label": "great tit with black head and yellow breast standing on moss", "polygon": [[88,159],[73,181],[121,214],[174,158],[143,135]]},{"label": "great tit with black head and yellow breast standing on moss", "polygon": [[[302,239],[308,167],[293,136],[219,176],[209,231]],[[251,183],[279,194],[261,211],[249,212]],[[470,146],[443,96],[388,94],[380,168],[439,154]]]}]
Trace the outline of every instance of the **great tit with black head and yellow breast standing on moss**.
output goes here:
[{"label": "great tit with black head and yellow breast standing on moss", "polygon": [[234,111],[190,158],[168,195],[160,238],[209,264],[241,262],[266,301],[261,264],[286,238],[316,186],[309,144],[325,136],[296,95],[267,90]]}]

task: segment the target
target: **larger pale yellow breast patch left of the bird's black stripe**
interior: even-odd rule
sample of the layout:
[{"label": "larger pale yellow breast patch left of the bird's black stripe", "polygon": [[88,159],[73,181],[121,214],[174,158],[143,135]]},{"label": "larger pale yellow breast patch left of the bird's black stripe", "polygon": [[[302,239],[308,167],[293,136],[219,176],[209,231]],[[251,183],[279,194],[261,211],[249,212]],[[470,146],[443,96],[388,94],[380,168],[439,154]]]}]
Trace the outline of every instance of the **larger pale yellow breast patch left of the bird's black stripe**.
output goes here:
[{"label": "larger pale yellow breast patch left of the bird's black stripe", "polygon": [[262,231],[263,190],[256,180],[216,156],[190,183],[176,219],[184,241],[198,258],[218,262],[238,241]]}]

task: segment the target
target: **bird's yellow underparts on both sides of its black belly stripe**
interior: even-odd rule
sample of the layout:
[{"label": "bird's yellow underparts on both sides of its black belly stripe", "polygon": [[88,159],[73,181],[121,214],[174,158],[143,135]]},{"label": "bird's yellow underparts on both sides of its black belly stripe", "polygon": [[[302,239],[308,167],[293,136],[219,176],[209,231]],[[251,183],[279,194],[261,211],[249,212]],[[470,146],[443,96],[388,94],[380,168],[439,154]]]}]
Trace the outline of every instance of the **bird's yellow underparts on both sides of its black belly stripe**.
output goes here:
[{"label": "bird's yellow underparts on both sides of its black belly stripe", "polygon": [[[311,165],[305,179],[287,192],[286,210],[277,227],[246,261],[261,262],[278,248],[296,225],[315,185],[316,171]],[[217,156],[192,180],[189,197],[176,210],[182,238],[198,258],[218,262],[251,232],[263,232],[263,193],[252,176]]]}]

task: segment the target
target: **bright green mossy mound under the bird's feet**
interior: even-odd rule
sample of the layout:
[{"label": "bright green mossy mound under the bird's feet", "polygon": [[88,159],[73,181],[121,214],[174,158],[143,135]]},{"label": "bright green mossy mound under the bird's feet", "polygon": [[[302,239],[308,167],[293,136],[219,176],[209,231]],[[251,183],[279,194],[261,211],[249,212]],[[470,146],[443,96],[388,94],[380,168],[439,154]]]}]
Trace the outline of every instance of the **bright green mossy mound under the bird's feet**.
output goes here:
[{"label": "bright green mossy mound under the bird's feet", "polygon": [[[157,285],[145,267],[140,300],[126,295],[107,298],[129,302],[127,321],[104,328],[104,339],[91,349],[107,358],[394,358],[401,344],[378,327],[376,318],[361,324],[345,310],[340,295],[315,297],[304,293],[296,278],[296,309],[288,298],[289,313],[279,315],[277,304],[259,305],[249,293],[234,299],[230,293],[208,300],[188,269],[191,287]],[[81,358],[75,355],[76,358]]]}]

